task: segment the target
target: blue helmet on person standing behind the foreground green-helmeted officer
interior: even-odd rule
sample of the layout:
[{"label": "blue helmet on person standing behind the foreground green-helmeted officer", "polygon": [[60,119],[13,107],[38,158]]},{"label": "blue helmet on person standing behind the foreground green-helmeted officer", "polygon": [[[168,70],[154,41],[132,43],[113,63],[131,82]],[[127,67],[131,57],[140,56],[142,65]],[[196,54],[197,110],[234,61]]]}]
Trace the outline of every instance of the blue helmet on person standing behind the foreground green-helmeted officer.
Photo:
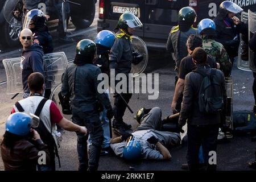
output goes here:
[{"label": "blue helmet on person standing behind the foreground green-helmeted officer", "polygon": [[102,30],[98,32],[95,43],[108,48],[112,48],[115,42],[115,34],[109,30]]}]

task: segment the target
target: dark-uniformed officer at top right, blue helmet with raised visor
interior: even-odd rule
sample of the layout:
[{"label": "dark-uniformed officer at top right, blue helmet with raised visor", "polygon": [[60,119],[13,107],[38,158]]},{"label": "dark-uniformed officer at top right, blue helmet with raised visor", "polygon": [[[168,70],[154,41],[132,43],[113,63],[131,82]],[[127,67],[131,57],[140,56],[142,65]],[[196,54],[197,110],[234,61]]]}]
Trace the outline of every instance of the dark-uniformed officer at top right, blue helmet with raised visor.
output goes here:
[{"label": "dark-uniformed officer at top right, blue helmet with raised visor", "polygon": [[239,29],[243,23],[235,16],[241,13],[243,9],[232,1],[224,1],[220,4],[220,10],[216,18],[213,19],[216,24],[216,41],[220,42],[228,52],[231,63],[234,57],[238,55],[240,43]]}]

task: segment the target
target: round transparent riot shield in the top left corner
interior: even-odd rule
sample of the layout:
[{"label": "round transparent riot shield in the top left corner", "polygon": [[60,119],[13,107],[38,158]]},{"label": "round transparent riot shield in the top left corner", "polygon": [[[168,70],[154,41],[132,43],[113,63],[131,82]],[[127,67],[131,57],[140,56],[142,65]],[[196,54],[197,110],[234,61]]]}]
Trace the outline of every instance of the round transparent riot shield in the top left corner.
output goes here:
[{"label": "round transparent riot shield in the top left corner", "polygon": [[[18,20],[18,18],[14,18],[13,12],[15,10],[17,0],[7,0],[5,5],[3,6],[3,16],[6,19],[6,22],[11,24],[14,27],[22,27],[22,20]],[[19,15],[21,18],[22,15]]]}]

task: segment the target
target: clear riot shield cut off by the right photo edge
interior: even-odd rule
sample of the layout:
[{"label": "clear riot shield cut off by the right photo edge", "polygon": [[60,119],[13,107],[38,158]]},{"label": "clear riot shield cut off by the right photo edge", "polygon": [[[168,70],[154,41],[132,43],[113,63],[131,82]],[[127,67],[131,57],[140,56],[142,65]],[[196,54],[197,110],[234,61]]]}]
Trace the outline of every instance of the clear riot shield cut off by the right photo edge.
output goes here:
[{"label": "clear riot shield cut off by the right photo edge", "polygon": [[[253,34],[256,32],[256,13],[253,13],[252,11],[248,10],[248,34],[249,34],[249,40],[252,38]],[[249,48],[249,64],[250,69],[253,72],[256,72],[256,65],[254,64],[254,52]]]}]

